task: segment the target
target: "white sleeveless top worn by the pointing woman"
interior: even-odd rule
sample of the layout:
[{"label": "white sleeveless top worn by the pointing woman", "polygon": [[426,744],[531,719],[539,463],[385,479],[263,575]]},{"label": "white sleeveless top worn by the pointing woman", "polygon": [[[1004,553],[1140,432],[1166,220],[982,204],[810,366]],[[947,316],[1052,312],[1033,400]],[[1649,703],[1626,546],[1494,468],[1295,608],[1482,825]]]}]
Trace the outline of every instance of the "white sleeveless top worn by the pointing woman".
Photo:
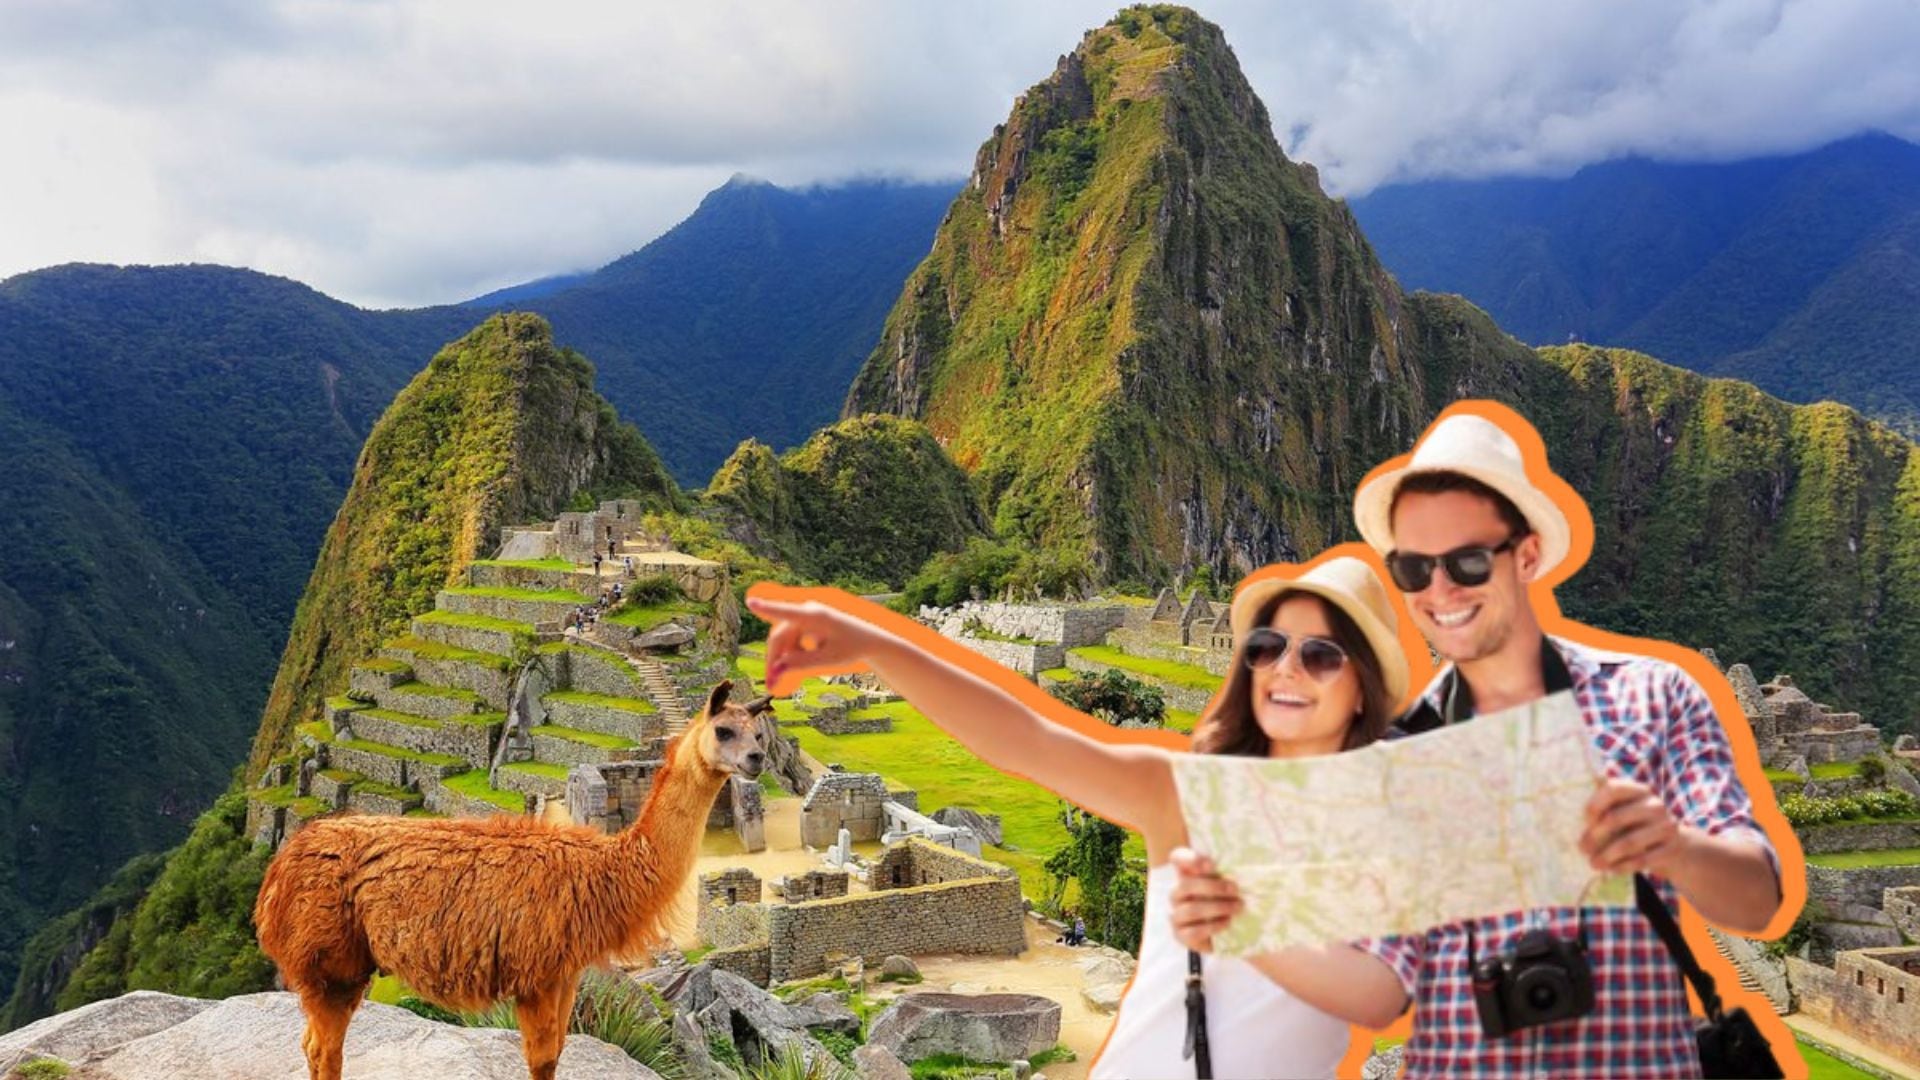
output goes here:
[{"label": "white sleeveless top worn by the pointing woman", "polygon": [[[1092,1080],[1194,1076],[1187,1042],[1187,949],[1173,940],[1171,863],[1146,872],[1140,967],[1119,1003],[1114,1034],[1092,1065]],[[1206,955],[1208,1043],[1213,1076],[1332,1076],[1346,1055],[1348,1024],[1281,990],[1246,961]]]}]

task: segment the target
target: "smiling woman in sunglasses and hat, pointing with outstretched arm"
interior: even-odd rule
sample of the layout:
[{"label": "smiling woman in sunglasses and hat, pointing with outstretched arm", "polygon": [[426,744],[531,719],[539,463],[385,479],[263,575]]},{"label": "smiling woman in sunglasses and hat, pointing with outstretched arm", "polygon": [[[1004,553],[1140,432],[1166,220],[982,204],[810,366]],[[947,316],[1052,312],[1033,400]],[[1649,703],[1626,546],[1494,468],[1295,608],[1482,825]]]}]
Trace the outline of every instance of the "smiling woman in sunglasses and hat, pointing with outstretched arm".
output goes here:
[{"label": "smiling woman in sunglasses and hat, pointing with outstretched arm", "polygon": [[[1369,563],[1334,555],[1292,578],[1281,573],[1248,578],[1235,596],[1233,671],[1194,730],[1196,753],[1308,757],[1365,746],[1386,730],[1407,690],[1398,617]],[[989,765],[1140,832],[1150,867],[1140,967],[1092,1076],[1190,1076],[1194,1065],[1181,1053],[1187,949],[1173,940],[1169,911],[1179,874],[1167,859],[1187,844],[1171,751],[1102,742],[1054,723],[1014,694],[826,603],[753,596],[747,605],[774,625],[770,692],[791,690],[806,671],[864,661]],[[1375,967],[1384,972],[1384,965]],[[1344,980],[1288,992],[1223,957],[1208,957],[1202,978],[1217,1076],[1331,1076],[1346,1053],[1354,1013]]]}]

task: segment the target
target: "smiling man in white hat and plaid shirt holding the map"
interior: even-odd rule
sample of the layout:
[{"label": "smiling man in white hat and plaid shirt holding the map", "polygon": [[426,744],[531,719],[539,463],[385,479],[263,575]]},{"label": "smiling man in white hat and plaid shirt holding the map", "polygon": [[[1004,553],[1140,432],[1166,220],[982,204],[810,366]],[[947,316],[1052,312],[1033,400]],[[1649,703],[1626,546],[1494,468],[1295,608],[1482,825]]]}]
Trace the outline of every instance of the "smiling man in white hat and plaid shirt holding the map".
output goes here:
[{"label": "smiling man in white hat and plaid shirt holding the map", "polygon": [[[1580,838],[1594,869],[1645,872],[1668,907],[1682,896],[1732,930],[1772,920],[1778,859],[1707,694],[1672,663],[1542,632],[1526,584],[1567,557],[1571,528],[1505,430],[1473,413],[1442,417],[1407,465],[1367,477],[1354,513],[1361,536],[1386,553],[1413,623],[1448,661],[1396,723],[1400,734],[1569,690],[1607,769]],[[1204,857],[1177,851],[1173,861],[1183,872],[1175,934],[1204,951],[1240,901]],[[1471,965],[1511,951],[1528,930],[1586,940],[1594,1005],[1490,1038]],[[1304,1001],[1371,1028],[1415,1005],[1405,1076],[1699,1074],[1680,972],[1634,907],[1513,911],[1254,963]]]}]

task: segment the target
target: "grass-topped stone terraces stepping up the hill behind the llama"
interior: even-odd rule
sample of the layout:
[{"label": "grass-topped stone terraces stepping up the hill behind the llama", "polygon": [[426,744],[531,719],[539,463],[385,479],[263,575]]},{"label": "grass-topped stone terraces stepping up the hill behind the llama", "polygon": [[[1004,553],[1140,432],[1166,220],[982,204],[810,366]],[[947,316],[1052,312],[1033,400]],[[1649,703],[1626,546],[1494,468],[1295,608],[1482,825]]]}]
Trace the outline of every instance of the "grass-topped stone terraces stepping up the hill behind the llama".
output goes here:
[{"label": "grass-topped stone terraces stepping up the hill behind the llama", "polygon": [[[434,611],[353,667],[346,694],[298,728],[298,749],[250,792],[250,834],[276,844],[313,817],[348,809],[417,817],[526,813],[561,799],[574,765],[639,759],[687,728],[666,665],[561,634],[591,603],[591,571],[474,563]],[[493,751],[515,675],[543,659],[530,761]]]}]

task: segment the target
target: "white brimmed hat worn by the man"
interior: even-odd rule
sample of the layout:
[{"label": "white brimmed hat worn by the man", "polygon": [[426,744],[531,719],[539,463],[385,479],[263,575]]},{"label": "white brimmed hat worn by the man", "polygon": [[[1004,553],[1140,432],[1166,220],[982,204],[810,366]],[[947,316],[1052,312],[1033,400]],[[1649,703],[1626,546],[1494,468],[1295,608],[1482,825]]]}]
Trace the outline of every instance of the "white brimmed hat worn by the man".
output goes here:
[{"label": "white brimmed hat worn by the man", "polygon": [[[1400,480],[1415,473],[1459,473],[1507,496],[1540,536],[1536,578],[1567,557],[1571,544],[1567,515],[1526,479],[1526,463],[1521,459],[1521,448],[1513,436],[1494,421],[1471,413],[1446,417],[1427,429],[1427,434],[1413,446],[1413,457],[1407,465],[1375,473],[1354,494],[1354,525],[1359,527],[1359,536],[1375,552],[1384,555],[1394,550],[1394,492],[1400,490]],[[1438,555],[1438,552],[1430,553]]]}]

